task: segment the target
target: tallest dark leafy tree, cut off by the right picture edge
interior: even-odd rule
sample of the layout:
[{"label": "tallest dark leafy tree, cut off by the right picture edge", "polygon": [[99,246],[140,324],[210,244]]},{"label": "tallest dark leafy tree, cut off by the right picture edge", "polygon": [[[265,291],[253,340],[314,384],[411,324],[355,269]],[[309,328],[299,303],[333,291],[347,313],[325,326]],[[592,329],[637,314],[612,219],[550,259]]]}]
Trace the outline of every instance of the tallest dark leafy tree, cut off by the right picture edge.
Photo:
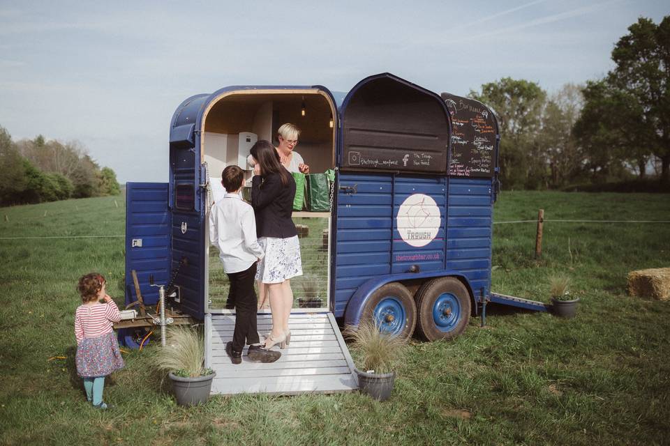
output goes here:
[{"label": "tallest dark leafy tree, cut off by the right picture edge", "polygon": [[[640,17],[612,51],[612,86],[625,92],[641,112],[644,143],[661,160],[661,178],[670,182],[670,16],[656,25]],[[634,101],[634,102],[633,102]],[[647,137],[651,136],[650,140]]]}]

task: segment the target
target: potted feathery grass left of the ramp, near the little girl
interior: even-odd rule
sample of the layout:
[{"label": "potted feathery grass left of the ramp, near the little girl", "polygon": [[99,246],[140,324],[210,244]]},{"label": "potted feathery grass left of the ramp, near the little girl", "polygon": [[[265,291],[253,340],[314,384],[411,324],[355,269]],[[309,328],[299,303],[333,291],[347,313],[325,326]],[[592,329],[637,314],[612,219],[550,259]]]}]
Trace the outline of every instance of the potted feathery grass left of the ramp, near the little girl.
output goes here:
[{"label": "potted feathery grass left of the ramp, near the little girl", "polygon": [[204,339],[195,328],[177,325],[168,329],[165,347],[156,351],[156,366],[167,371],[180,406],[204,404],[216,374],[204,367]]}]

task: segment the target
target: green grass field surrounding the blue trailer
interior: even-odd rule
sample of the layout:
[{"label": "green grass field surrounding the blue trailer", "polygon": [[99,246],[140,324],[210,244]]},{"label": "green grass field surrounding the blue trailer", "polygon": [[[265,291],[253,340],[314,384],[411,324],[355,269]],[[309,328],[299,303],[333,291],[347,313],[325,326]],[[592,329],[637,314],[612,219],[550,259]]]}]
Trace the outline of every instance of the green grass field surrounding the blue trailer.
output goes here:
[{"label": "green grass field surrounding the blue trailer", "polygon": [[[122,236],[123,201],[0,208],[0,237]],[[539,208],[549,220],[670,220],[668,195],[558,192],[504,192],[495,220]],[[670,302],[625,293],[628,271],[670,266],[670,224],[547,222],[541,260],[534,224],[494,228],[494,291],[546,301],[549,275],[563,272],[581,298],[576,318],[491,305],[486,328],[472,320],[452,342],[412,341],[385,403],[251,395],[184,409],[151,347],[108,379],[106,412],[85,403],[75,372],[75,282],[98,270],[122,302],[124,238],[0,240],[0,443],[670,444]]]}]

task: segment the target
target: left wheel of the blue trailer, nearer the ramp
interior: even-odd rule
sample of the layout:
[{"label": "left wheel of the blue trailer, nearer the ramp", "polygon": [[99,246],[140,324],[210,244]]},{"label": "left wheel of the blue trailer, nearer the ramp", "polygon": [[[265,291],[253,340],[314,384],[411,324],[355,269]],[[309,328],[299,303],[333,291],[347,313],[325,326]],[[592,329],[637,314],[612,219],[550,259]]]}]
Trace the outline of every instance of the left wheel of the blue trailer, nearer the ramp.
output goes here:
[{"label": "left wheel of the blue trailer, nearer the ramp", "polygon": [[417,325],[417,305],[403,284],[391,282],[370,296],[361,321],[374,322],[382,332],[407,339]]}]

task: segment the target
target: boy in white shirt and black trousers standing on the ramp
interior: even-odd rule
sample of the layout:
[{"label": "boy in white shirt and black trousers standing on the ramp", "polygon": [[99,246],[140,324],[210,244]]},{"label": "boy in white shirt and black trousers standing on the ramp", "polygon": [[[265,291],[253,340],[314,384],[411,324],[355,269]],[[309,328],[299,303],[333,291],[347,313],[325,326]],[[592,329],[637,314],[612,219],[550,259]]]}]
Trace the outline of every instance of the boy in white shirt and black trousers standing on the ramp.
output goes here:
[{"label": "boy in white shirt and black trousers standing on the ramp", "polygon": [[256,240],[253,208],[239,194],[244,183],[244,171],[237,166],[226,167],[221,174],[221,183],[228,192],[211,207],[209,241],[221,252],[223,270],[230,280],[228,304],[234,305],[237,312],[232,342],[226,344],[225,351],[233,364],[240,364],[242,350],[249,344],[249,359],[274,362],[281,353],[260,345],[256,327],[258,298],[253,282],[256,262],[265,253]]}]

